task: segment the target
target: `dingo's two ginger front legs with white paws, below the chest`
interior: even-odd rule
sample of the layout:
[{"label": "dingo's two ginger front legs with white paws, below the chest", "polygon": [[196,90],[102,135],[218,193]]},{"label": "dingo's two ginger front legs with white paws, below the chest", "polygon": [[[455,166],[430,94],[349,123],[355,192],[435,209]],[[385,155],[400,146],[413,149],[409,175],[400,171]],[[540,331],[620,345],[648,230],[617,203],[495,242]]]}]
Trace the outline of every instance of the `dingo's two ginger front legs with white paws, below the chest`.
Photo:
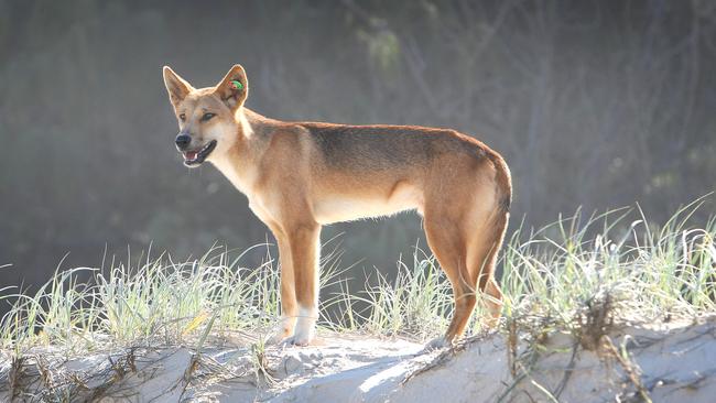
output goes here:
[{"label": "dingo's two ginger front legs with white paws, below the chest", "polygon": [[297,318],[293,338],[297,346],[308,345],[315,337],[318,320],[318,257],[321,225],[302,222],[285,231],[291,248],[291,261],[297,301]]}]

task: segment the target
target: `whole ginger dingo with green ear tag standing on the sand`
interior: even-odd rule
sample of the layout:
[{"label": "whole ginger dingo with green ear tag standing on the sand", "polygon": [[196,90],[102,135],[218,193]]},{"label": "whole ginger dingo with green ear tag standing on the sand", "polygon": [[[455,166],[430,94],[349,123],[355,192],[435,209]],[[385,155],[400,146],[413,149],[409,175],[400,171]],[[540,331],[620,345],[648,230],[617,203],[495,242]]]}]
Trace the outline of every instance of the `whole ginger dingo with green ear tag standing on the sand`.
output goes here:
[{"label": "whole ginger dingo with green ear tag standing on the sand", "polygon": [[509,218],[502,157],[454,130],[412,126],[284,122],[243,106],[249,84],[234,66],[215,87],[193,88],[171,68],[185,164],[209,161],[249,198],[280,251],[282,320],[276,338],[311,342],[318,316],[321,226],[415,209],[455,296],[442,341],[462,335],[478,291],[499,318],[492,276]]}]

